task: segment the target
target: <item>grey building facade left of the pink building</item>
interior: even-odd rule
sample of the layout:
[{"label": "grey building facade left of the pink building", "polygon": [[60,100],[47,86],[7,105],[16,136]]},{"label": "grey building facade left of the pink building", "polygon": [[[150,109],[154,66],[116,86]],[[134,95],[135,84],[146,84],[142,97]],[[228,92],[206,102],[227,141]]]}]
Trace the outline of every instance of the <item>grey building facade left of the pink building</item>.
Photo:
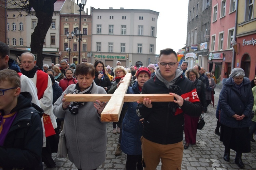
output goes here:
[{"label": "grey building facade left of the pink building", "polygon": [[211,3],[211,0],[190,0],[188,2],[187,43],[185,48],[185,60],[188,61],[188,68],[200,65],[209,71]]}]

